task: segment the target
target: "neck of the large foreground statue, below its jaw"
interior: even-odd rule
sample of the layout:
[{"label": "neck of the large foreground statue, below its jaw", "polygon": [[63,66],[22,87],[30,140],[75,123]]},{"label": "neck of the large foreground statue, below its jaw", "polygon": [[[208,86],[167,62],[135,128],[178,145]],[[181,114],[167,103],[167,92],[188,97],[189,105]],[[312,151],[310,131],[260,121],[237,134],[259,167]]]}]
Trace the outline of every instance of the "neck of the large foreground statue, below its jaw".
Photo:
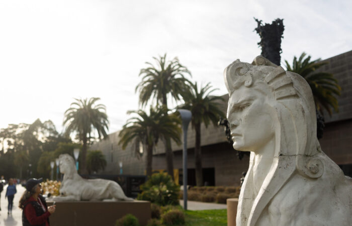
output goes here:
[{"label": "neck of the large foreground statue, below its jaw", "polygon": [[267,177],[273,164],[275,154],[275,139],[271,139],[265,146],[254,152],[253,185],[256,194]]}]

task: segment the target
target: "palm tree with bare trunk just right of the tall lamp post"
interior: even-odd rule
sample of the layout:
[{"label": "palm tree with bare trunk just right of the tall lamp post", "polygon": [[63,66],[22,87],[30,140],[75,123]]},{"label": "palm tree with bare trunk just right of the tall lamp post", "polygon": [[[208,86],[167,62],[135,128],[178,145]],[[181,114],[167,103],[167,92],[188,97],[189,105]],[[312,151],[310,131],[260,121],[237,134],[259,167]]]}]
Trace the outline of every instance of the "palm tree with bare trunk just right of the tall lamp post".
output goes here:
[{"label": "palm tree with bare trunk just right of the tall lamp post", "polygon": [[208,128],[211,122],[214,126],[218,124],[220,117],[225,117],[224,112],[220,109],[220,101],[224,100],[221,96],[211,96],[216,89],[211,89],[210,83],[201,86],[199,89],[197,82],[191,84],[191,89],[183,93],[184,104],[178,108],[188,109],[192,112],[192,128],[196,131],[195,144],[195,165],[196,165],[196,183],[197,186],[203,186],[202,173],[202,152],[201,152],[201,124],[204,123]]}]

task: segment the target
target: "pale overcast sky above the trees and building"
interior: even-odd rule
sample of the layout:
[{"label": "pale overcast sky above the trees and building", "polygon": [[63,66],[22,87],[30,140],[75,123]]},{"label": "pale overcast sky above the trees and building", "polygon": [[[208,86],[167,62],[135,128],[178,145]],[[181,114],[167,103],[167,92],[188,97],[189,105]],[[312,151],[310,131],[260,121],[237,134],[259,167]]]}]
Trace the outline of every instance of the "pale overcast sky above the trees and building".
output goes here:
[{"label": "pale overcast sky above the trees and building", "polygon": [[222,73],[261,50],[256,22],[283,18],[284,59],[352,50],[352,1],[0,0],[0,128],[52,120],[73,98],[100,97],[110,133],[138,108],[145,62],[167,53],[225,94]]}]

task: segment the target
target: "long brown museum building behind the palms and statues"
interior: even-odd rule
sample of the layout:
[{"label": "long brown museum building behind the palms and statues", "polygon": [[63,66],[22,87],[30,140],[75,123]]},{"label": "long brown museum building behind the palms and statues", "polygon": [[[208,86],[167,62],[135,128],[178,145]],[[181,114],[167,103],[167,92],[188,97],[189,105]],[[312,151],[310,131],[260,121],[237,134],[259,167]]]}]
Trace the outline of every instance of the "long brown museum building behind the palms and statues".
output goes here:
[{"label": "long brown museum building behind the palms and statues", "polygon": [[[328,116],[325,112],[323,138],[319,140],[323,152],[341,167],[345,175],[352,176],[352,51],[325,59],[328,64],[321,70],[334,74],[341,86],[341,95],[337,97],[339,112]],[[221,107],[227,110],[228,94],[222,96]],[[227,142],[224,127],[209,125],[201,128],[203,181],[207,185],[240,184],[242,172],[247,171],[249,156],[239,160],[236,151]],[[139,144],[130,144],[126,150],[118,145],[119,131],[109,135],[109,139],[93,144],[90,150],[101,150],[106,157],[107,167],[99,174],[145,174],[145,155]],[[195,185],[195,131],[188,131],[188,184]],[[182,181],[182,145],[172,142],[173,167],[175,178]],[[160,141],[153,153],[153,170],[165,170],[166,159],[163,143]]]}]

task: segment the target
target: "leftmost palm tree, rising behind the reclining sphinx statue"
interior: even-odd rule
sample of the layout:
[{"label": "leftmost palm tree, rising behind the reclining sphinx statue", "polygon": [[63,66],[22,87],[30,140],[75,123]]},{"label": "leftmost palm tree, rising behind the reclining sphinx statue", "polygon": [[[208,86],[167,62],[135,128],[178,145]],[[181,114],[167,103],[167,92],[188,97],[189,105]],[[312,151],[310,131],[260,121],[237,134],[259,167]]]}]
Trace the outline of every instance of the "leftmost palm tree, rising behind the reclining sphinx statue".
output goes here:
[{"label": "leftmost palm tree, rising behind the reclining sphinx statue", "polygon": [[82,142],[82,173],[87,173],[86,154],[87,143],[92,138],[94,131],[98,132],[98,137],[107,138],[109,121],[106,108],[103,104],[96,104],[100,98],[92,97],[87,99],[76,99],[71,103],[71,107],[65,111],[63,126],[66,126],[66,135],[76,132]]}]

